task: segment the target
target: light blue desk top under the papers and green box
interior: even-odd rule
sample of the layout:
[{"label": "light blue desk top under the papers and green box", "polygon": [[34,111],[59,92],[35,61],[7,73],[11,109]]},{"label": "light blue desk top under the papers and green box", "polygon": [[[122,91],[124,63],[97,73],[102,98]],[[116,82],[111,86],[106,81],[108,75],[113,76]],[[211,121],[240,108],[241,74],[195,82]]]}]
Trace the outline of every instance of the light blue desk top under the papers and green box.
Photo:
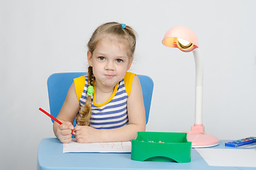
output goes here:
[{"label": "light blue desk top under the papers and green box", "polygon": [[[213,148],[225,148],[220,144]],[[193,170],[252,170],[247,167],[209,166],[196,149],[192,149],[190,163],[175,162],[138,162],[131,154],[117,153],[63,153],[62,143],[57,138],[45,138],[40,142],[37,154],[37,169],[193,169]],[[227,148],[228,149],[228,148]]]}]

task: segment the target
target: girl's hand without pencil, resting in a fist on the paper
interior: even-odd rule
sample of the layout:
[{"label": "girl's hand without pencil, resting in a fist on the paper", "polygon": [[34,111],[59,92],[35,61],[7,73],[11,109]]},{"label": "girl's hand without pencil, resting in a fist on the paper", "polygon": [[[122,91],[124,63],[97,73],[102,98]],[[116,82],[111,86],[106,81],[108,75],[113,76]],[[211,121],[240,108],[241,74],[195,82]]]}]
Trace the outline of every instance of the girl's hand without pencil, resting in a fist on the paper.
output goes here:
[{"label": "girl's hand without pencil, resting in a fist on the paper", "polygon": [[89,143],[89,142],[99,142],[97,136],[99,135],[99,130],[91,128],[90,126],[79,126],[74,128],[76,133],[75,138],[78,143]]}]

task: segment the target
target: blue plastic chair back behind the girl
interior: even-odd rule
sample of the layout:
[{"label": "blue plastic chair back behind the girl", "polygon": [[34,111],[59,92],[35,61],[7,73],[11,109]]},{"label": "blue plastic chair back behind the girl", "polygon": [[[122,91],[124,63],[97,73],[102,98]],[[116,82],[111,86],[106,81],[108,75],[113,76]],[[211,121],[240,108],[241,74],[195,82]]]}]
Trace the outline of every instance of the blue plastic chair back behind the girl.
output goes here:
[{"label": "blue plastic chair back behind the girl", "polygon": [[[47,79],[50,113],[55,118],[59,114],[62,105],[65,101],[66,94],[69,91],[69,87],[73,83],[73,79],[81,77],[87,74],[86,72],[67,72],[67,73],[54,73]],[[149,111],[151,106],[151,98],[153,94],[153,80],[144,75],[137,75],[141,82],[141,89],[144,100],[144,107],[146,113],[146,123],[149,120]],[[54,120],[52,120],[54,122]],[[76,125],[76,121],[74,121]]]}]

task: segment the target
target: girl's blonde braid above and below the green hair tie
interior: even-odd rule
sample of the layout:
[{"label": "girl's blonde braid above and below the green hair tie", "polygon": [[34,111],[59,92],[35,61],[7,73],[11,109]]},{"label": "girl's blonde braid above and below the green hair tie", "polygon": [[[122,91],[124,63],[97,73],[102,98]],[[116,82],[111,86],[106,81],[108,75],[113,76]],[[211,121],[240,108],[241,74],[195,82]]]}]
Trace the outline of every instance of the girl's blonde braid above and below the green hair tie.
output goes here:
[{"label": "girl's blonde braid above and below the green hair tie", "polygon": [[[94,86],[95,77],[93,75],[93,67],[88,67],[88,86]],[[91,96],[87,96],[86,104],[80,107],[76,115],[76,123],[78,125],[90,125],[91,118]]]}]

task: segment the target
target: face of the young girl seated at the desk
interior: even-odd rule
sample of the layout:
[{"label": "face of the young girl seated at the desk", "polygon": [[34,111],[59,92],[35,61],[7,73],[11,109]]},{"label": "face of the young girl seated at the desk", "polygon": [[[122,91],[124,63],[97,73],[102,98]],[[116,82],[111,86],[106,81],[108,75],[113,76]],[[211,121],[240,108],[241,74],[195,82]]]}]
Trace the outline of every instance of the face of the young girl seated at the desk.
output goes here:
[{"label": "face of the young girl seated at the desk", "polygon": [[93,67],[96,87],[106,88],[114,88],[124,78],[133,60],[133,57],[129,57],[128,42],[109,35],[99,40],[93,54],[88,51],[87,57]]}]

